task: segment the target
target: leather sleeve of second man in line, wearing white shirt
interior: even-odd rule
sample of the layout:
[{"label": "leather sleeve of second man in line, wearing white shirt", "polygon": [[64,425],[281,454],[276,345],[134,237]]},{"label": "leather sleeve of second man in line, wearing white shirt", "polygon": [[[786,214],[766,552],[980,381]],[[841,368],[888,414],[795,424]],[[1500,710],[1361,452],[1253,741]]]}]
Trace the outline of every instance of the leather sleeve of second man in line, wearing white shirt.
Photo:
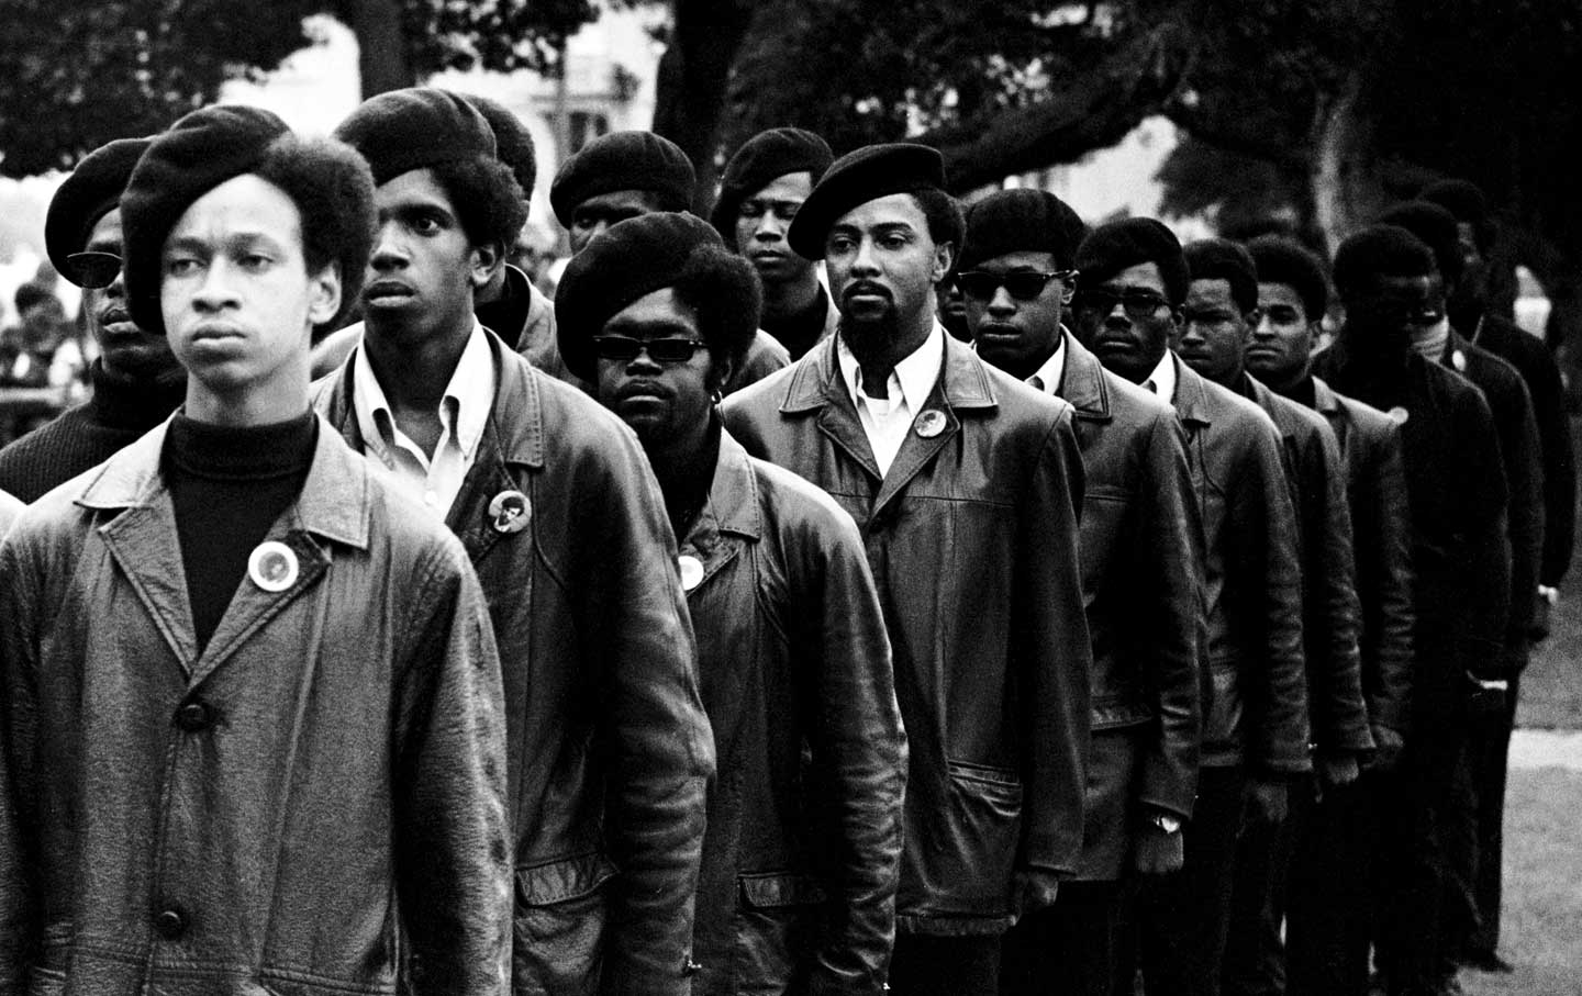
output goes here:
[{"label": "leather sleeve of second man in line, wearing white shirt", "polygon": [[600,985],[606,994],[685,996],[713,735],[660,485],[630,430],[607,438],[579,482],[574,534],[593,542],[573,585],[601,704],[604,835],[620,868]]}]

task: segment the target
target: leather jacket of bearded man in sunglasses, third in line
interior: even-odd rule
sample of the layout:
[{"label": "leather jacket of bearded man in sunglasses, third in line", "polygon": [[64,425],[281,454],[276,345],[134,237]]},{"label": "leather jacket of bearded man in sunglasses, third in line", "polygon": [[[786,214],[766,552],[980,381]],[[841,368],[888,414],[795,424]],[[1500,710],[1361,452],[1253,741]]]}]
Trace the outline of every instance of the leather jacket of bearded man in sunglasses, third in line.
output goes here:
[{"label": "leather jacket of bearded man in sunglasses, third in line", "polygon": [[682,558],[701,568],[687,606],[720,765],[693,996],[878,994],[906,740],[856,523],[721,433]]}]

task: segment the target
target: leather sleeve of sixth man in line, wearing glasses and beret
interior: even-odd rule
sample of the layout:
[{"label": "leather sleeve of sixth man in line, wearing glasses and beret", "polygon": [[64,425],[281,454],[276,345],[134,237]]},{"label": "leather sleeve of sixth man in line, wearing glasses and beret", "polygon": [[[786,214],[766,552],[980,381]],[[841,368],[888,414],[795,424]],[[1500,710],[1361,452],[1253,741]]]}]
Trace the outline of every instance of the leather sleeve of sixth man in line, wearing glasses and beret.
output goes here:
[{"label": "leather sleeve of sixth man in line, wearing glasses and beret", "polygon": [[1248,767],[1294,775],[1308,757],[1307,670],[1302,656],[1302,566],[1297,519],[1280,463],[1274,425],[1250,428],[1231,496],[1236,550],[1231,563],[1250,571],[1237,610],[1255,617],[1262,655],[1243,661]]}]

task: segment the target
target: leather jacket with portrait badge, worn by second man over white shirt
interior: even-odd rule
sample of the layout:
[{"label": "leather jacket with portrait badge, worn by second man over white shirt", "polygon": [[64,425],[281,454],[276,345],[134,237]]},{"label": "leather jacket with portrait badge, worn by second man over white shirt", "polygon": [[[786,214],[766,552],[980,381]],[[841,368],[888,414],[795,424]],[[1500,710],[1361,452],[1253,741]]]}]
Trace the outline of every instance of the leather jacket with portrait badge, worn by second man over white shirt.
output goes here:
[{"label": "leather jacket with portrait badge, worn by second man over white shirt", "polygon": [[[513,990],[682,996],[713,745],[664,503],[626,425],[487,337],[495,398],[446,525],[501,648]],[[351,370],[318,406],[361,449]],[[490,509],[508,492],[519,531]]]}]

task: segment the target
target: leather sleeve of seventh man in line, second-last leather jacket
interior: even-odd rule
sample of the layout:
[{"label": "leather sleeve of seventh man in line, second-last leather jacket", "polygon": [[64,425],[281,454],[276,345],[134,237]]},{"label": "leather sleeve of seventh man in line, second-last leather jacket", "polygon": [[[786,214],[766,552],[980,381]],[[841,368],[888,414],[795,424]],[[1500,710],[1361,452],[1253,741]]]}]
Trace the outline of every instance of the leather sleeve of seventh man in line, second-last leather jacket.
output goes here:
[{"label": "leather sleeve of seventh man in line, second-last leather jacket", "polygon": [[1308,440],[1300,468],[1308,713],[1319,753],[1356,754],[1373,749],[1373,737],[1362,699],[1357,648],[1362,607],[1357,602],[1346,468],[1329,424],[1316,421],[1315,428],[1318,432]]}]

